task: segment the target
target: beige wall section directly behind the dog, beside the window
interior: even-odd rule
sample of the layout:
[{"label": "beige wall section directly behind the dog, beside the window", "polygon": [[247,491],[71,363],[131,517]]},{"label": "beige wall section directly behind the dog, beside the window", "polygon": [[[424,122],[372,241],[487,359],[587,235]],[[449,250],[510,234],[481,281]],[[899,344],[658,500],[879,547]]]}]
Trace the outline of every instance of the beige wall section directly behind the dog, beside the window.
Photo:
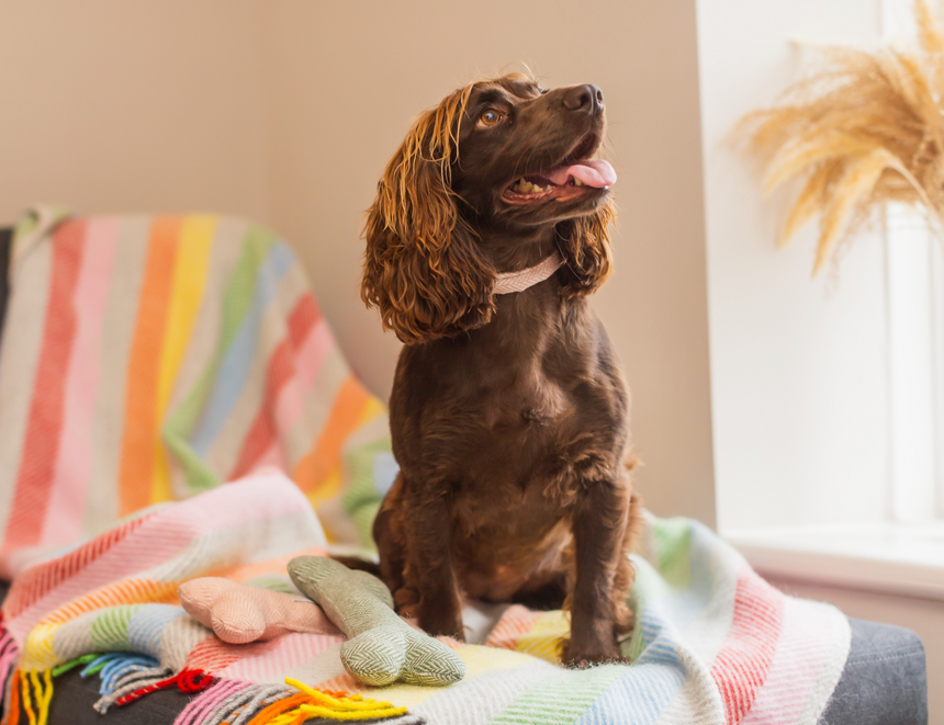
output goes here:
[{"label": "beige wall section directly behind the dog, beside the window", "polygon": [[594,305],[633,390],[649,506],[713,523],[694,0],[270,8],[273,218],[358,372],[384,396],[398,345],[358,302],[358,231],[413,116],[510,61],[551,87],[600,86],[620,219],[616,273]]}]

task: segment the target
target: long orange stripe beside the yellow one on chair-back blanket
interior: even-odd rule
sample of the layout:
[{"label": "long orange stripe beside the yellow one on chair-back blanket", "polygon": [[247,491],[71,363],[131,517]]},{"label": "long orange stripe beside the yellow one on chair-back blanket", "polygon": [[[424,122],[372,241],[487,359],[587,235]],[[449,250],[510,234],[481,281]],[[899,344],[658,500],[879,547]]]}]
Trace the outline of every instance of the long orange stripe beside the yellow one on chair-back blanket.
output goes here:
[{"label": "long orange stripe beside the yellow one on chair-back blanket", "polygon": [[157,437],[157,376],[167,330],[173,264],[180,240],[179,218],[155,219],[141,290],[125,385],[125,430],[119,477],[120,513],[150,503]]}]

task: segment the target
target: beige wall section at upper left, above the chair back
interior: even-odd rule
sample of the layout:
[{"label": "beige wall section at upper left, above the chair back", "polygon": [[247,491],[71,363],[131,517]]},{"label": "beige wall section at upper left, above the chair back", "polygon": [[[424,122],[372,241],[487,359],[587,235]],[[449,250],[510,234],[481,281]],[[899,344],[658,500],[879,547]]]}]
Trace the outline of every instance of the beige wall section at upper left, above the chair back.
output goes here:
[{"label": "beige wall section at upper left, above the chair back", "polygon": [[34,202],[266,219],[261,7],[0,4],[0,223]]}]

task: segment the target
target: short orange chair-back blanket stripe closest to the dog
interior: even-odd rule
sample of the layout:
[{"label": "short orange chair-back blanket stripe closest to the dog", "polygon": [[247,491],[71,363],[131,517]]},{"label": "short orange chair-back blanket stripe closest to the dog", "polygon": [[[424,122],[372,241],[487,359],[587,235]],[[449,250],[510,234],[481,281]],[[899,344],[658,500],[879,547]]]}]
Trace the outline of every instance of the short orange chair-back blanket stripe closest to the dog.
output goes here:
[{"label": "short orange chair-back blanket stripe closest to the dog", "polygon": [[341,449],[360,426],[361,414],[369,401],[370,396],[357,380],[348,377],[344,382],[317,444],[295,466],[294,479],[299,488],[315,490],[340,465]]}]

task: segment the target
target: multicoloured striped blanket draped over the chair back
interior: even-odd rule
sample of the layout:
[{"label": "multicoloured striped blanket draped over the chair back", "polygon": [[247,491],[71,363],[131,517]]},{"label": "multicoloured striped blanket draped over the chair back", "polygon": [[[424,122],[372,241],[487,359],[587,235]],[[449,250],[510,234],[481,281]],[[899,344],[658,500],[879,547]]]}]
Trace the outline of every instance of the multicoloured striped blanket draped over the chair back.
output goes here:
[{"label": "multicoloured striped blanket draped over the chair back", "polygon": [[0,576],[259,465],[290,473],[331,541],[370,544],[374,471],[395,469],[384,408],[272,233],[44,207],[18,227],[10,285]]}]

